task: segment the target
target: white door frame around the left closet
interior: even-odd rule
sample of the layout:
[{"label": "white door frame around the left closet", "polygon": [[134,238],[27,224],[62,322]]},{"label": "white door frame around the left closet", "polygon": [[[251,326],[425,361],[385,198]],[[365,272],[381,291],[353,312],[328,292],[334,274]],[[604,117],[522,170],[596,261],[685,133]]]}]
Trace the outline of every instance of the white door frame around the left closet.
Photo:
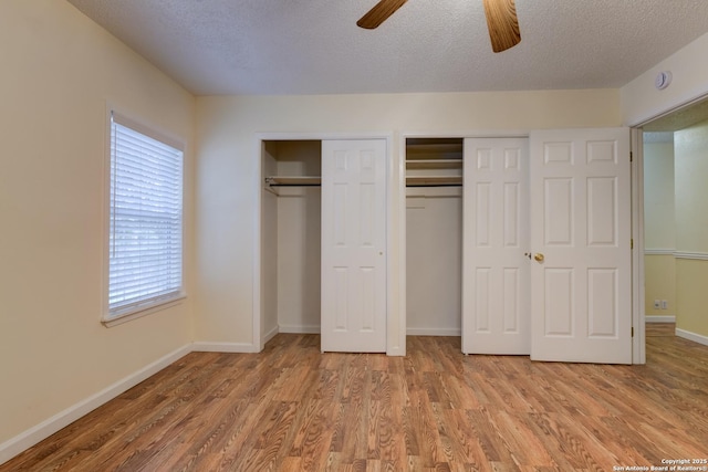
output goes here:
[{"label": "white door frame around the left closet", "polygon": [[335,139],[384,139],[386,141],[386,354],[389,356],[405,355],[405,338],[403,339],[403,354],[400,353],[400,339],[392,336],[396,333],[399,325],[398,316],[400,308],[396,305],[398,296],[395,296],[396,277],[392,270],[395,265],[395,214],[396,208],[396,172],[395,161],[397,154],[394,153],[394,135],[393,133],[256,133],[253,136],[253,156],[258,162],[253,171],[253,291],[252,291],[252,326],[251,326],[251,346],[248,350],[260,353],[268,343],[279,332],[278,326],[274,329],[263,333],[261,323],[261,212],[262,212],[262,186],[266,176],[262,175],[262,143],[268,140],[335,140]]}]

